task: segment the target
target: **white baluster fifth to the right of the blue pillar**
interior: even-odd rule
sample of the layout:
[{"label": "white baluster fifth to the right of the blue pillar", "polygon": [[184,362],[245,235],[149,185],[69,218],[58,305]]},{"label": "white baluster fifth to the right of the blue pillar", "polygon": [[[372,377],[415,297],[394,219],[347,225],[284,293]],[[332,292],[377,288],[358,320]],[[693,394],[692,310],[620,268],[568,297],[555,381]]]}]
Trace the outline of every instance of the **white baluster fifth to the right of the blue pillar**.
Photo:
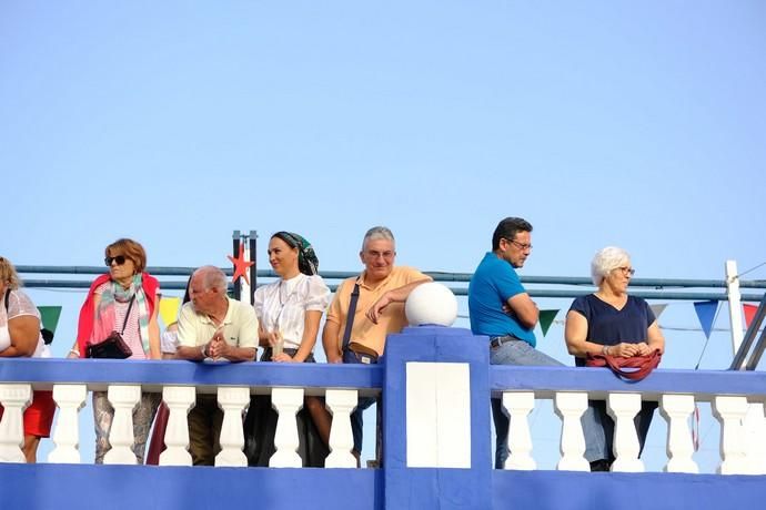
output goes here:
[{"label": "white baluster fifth to the right of the blue pillar", "polygon": [[743,419],[747,414],[745,397],[716,397],[713,414],[720,422],[720,475],[747,475],[748,463],[745,453],[745,427]]}]

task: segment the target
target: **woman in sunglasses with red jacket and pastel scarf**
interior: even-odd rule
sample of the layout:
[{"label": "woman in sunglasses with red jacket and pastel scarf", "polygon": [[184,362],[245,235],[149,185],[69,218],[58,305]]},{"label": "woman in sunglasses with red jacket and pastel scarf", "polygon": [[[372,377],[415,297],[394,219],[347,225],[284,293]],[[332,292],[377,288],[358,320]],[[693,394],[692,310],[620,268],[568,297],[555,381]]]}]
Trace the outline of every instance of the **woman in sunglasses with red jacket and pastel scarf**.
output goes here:
[{"label": "woman in sunglasses with red jacket and pastel scarf", "polygon": [[[118,239],[107,246],[104,263],[109,273],[95,278],[80,310],[77,341],[70,358],[87,357],[89,345],[103,341],[112,332],[131,350],[127,359],[160,359],[160,327],[157,322],[160,285],[144,272],[147,253],[132,239]],[[160,402],[160,394],[142,394],[133,410],[133,453],[143,463],[149,428]],[[114,409],[105,391],[93,391],[95,421],[95,463],[102,463],[111,449],[109,430]]]}]

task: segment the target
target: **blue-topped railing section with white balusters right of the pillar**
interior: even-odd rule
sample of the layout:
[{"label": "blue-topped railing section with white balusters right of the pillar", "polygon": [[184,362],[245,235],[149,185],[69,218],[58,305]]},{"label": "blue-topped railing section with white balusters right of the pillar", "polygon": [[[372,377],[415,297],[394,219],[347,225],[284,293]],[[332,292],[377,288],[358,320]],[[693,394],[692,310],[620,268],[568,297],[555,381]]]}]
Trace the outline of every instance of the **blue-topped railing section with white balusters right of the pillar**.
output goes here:
[{"label": "blue-topped railing section with white balusters right of the pillar", "polygon": [[[656,401],[667,424],[664,471],[697,473],[692,417],[695,405],[710,404],[720,424],[722,475],[766,473],[766,374],[753,371],[655,370],[639,382],[624,382],[602,368],[501,367],[491,370],[493,394],[502,398],[511,426],[506,469],[535,469],[527,415],[535,399],[553,400],[561,418],[557,469],[587,471],[581,417],[588,399],[605,400],[615,421],[613,471],[641,472],[634,417],[642,400]],[[657,424],[655,416],[653,427]],[[747,425],[747,426],[746,426]]]}]

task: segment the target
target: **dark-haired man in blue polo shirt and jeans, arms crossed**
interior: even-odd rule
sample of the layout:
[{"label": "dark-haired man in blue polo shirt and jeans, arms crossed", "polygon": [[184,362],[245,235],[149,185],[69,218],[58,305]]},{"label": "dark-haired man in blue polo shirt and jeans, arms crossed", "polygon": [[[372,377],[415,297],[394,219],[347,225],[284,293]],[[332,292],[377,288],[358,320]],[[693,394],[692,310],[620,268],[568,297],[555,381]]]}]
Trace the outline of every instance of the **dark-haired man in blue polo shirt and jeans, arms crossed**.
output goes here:
[{"label": "dark-haired man in blue polo shirt and jeans, arms crossed", "polygon": [[[516,269],[524,266],[532,252],[532,225],[520,217],[501,221],[492,235],[492,252],[487,252],[476,267],[468,286],[468,312],[474,335],[490,337],[492,365],[562,366],[535,349],[535,324],[540,316],[537,305],[522,285]],[[495,468],[503,469],[508,457],[508,418],[500,399],[492,399],[495,422]],[[593,435],[603,435],[594,421],[593,410],[583,416],[586,443]],[[588,461],[604,458],[604,452],[586,449]]]}]

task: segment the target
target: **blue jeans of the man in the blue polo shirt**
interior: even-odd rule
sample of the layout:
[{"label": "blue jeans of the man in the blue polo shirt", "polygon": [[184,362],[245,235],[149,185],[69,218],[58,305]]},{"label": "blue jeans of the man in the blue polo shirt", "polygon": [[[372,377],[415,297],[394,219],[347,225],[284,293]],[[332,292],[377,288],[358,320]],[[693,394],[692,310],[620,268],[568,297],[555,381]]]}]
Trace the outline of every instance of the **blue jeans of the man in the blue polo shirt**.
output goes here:
[{"label": "blue jeans of the man in the blue polo shirt", "polygon": [[[532,347],[524,340],[508,340],[490,349],[490,364],[516,365],[527,367],[563,367],[564,364],[553,359]],[[503,469],[508,457],[508,417],[503,412],[501,399],[492,399],[492,418],[495,422],[495,469]],[[593,407],[588,406],[581,418],[585,436],[585,458],[588,462],[608,458],[604,428],[597,421]]]}]

